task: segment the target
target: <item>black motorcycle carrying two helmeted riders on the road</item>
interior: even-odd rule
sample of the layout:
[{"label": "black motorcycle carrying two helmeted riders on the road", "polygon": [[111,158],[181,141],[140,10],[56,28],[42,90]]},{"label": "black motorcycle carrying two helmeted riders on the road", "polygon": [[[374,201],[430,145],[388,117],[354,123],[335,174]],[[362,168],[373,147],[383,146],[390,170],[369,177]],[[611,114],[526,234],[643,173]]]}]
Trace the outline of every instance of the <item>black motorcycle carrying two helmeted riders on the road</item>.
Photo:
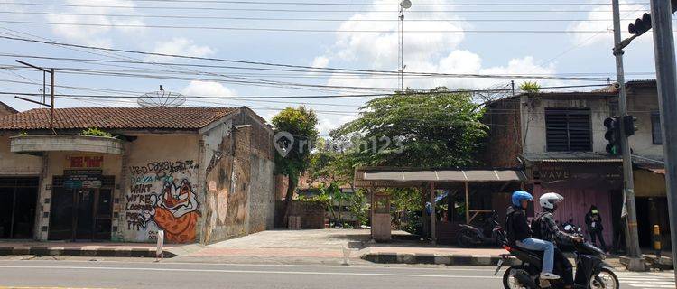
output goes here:
[{"label": "black motorcycle carrying two helmeted riders on the road", "polygon": [[[503,275],[505,289],[539,289],[552,287],[563,288],[565,284],[558,280],[540,280],[541,266],[543,265],[543,252],[530,251],[519,247],[511,247],[504,242],[503,247],[510,254],[504,254],[498,261],[494,275],[498,274],[501,267],[510,258],[515,256],[522,261],[521,265],[510,266]],[[574,266],[574,288],[576,289],[618,289],[618,277],[613,272],[613,267],[604,262],[606,254],[598,247],[587,242],[574,244],[576,264]],[[558,272],[554,272],[558,274]]]}]

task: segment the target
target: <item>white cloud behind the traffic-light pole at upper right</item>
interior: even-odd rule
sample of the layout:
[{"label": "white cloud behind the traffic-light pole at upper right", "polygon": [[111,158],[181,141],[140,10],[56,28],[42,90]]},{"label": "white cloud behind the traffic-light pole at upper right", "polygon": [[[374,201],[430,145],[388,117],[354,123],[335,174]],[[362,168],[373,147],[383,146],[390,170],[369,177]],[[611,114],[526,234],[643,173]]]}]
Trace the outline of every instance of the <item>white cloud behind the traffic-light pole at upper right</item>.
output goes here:
[{"label": "white cloud behind the traffic-light pole at upper right", "polygon": [[[634,23],[636,18],[649,11],[649,5],[628,4],[626,0],[620,0],[621,10],[621,35],[625,39],[629,36],[627,25]],[[598,42],[607,42],[613,45],[614,23],[611,21],[612,14],[609,12],[610,5],[599,5],[588,13],[586,20],[571,23],[568,31],[575,45],[587,46]],[[607,21],[599,21],[599,20]],[[608,33],[574,33],[574,31],[608,31]],[[609,48],[610,49],[610,48]]]}]

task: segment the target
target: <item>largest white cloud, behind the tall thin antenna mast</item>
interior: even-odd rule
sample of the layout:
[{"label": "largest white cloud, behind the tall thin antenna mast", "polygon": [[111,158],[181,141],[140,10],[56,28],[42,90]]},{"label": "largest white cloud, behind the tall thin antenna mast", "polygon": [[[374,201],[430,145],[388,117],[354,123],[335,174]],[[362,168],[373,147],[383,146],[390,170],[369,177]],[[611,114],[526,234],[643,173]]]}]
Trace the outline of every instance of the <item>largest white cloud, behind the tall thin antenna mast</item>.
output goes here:
[{"label": "largest white cloud, behind the tall thin antenna mast", "polygon": [[[392,2],[375,0],[375,4],[392,4]],[[433,1],[431,4],[443,1]],[[339,30],[378,30],[386,33],[337,33],[333,53],[323,56],[329,61],[353,62],[361,66],[365,64],[371,70],[399,70],[398,61],[398,23],[359,21],[363,19],[383,19],[380,10],[387,6],[376,6],[367,13],[354,14],[342,23]],[[483,65],[483,59],[477,53],[459,49],[464,41],[464,29],[472,25],[455,15],[453,7],[446,5],[425,6],[430,13],[405,13],[404,64],[408,72],[432,72],[445,74],[552,74],[554,65],[542,66],[528,55],[515,57],[500,66]],[[429,19],[449,19],[450,21],[429,21]],[[407,21],[408,20],[408,21]],[[459,33],[413,33],[415,31],[458,31]],[[406,33],[410,32],[410,33]],[[414,89],[432,89],[445,86],[450,89],[481,89],[508,79],[482,78],[432,78],[407,77],[404,84]],[[396,88],[396,77],[384,78],[363,77],[348,79],[341,75],[333,75],[329,85],[353,87]],[[539,81],[542,84],[544,81]]]}]

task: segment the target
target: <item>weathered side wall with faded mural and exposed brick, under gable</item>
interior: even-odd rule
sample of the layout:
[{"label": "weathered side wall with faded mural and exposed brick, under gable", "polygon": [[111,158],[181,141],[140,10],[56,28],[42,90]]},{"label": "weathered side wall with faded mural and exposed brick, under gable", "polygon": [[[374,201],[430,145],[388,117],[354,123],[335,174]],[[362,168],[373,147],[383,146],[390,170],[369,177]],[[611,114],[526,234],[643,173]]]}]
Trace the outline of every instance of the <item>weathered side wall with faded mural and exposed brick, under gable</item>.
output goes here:
[{"label": "weathered side wall with faded mural and exposed brick, under gable", "polygon": [[203,136],[208,208],[201,242],[273,228],[273,135],[250,113],[243,109]]}]

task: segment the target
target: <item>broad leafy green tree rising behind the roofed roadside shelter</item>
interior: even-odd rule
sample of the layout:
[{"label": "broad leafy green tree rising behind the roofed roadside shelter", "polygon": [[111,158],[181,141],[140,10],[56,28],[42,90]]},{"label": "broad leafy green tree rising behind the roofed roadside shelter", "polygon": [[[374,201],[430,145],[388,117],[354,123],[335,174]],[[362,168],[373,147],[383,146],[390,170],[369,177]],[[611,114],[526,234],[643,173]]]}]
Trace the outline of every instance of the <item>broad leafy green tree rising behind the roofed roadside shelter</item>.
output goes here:
[{"label": "broad leafy green tree rising behind the roofed roadside shelter", "polygon": [[376,98],[361,108],[360,117],[338,127],[335,138],[359,135],[354,165],[456,167],[477,164],[487,126],[483,108],[468,92],[408,90]]}]

